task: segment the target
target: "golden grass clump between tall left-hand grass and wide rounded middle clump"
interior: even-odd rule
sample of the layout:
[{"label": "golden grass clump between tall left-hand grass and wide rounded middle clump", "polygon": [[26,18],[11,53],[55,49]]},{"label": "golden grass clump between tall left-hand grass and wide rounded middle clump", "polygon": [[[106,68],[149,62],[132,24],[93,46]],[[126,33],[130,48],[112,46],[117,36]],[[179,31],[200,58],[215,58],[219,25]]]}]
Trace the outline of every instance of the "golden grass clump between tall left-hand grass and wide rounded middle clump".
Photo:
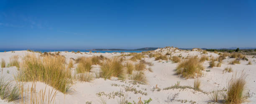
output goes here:
[{"label": "golden grass clump between tall left-hand grass and wide rounded middle clump", "polygon": [[86,73],[91,70],[92,60],[91,58],[80,57],[77,65],[77,73]]}]

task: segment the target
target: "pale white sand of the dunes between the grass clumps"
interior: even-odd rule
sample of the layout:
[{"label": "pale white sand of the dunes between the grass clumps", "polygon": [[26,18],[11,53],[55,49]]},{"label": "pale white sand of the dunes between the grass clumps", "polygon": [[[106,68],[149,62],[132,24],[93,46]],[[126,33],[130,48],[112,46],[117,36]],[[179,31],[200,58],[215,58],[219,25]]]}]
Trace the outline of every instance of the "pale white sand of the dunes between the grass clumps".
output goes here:
[{"label": "pale white sand of the dunes between the grass clumps", "polygon": [[[166,48],[166,49],[157,49],[155,52],[160,53],[167,53],[172,52],[172,56],[202,56],[202,51],[184,51],[178,50],[175,48]],[[12,52],[2,52],[0,53],[0,58],[5,59],[7,63],[9,63],[9,58],[13,55],[24,56],[27,53],[31,53],[28,51],[15,51]],[[39,53],[36,53],[39,54]],[[125,53],[128,54],[128,53]],[[71,53],[71,52],[61,52],[61,55],[64,55],[67,59],[67,62],[70,58],[78,58],[80,56],[100,56],[103,55],[105,57],[112,57],[112,56],[120,56],[121,53]],[[217,57],[218,54],[209,53],[206,54],[207,56],[214,56]],[[224,73],[223,70],[227,66],[231,66],[233,71],[241,72],[242,70],[246,71],[248,77],[246,79],[246,89],[250,90],[250,93],[256,93],[256,58],[251,58],[249,56],[249,60],[251,60],[252,65],[247,65],[248,61],[241,60],[241,64],[230,65],[228,61],[233,60],[234,58],[227,58],[223,60],[223,64],[221,67],[213,67],[208,68],[209,61],[205,61],[203,63],[205,70],[210,70],[210,72],[203,71],[204,76],[200,77],[199,79],[202,81],[201,89],[205,92],[211,92],[214,90],[221,90],[226,88],[227,81],[231,78],[233,73]],[[127,57],[129,58],[129,57]],[[179,99],[187,100],[187,104],[190,104],[189,101],[196,101],[196,104],[207,104],[210,102],[211,94],[204,94],[199,91],[194,91],[193,89],[169,89],[163,90],[163,88],[175,85],[177,81],[180,81],[181,86],[193,86],[195,79],[183,79],[177,75],[175,75],[175,69],[177,67],[177,63],[172,63],[172,61],[154,61],[154,58],[145,58],[146,61],[150,61],[154,64],[154,66],[147,66],[151,67],[154,72],[145,71],[148,84],[136,84],[133,85],[130,80],[125,81],[115,81],[115,80],[104,80],[104,79],[94,79],[91,82],[80,82],[77,81],[76,84],[72,85],[69,90],[69,93],[64,95],[61,92],[58,92],[56,95],[56,104],[85,104],[86,101],[92,101],[92,104],[100,104],[100,97],[97,96],[97,93],[104,92],[105,94],[111,92],[123,92],[124,95],[128,96],[128,101],[138,101],[138,97],[141,99],[153,99],[150,104],[182,104],[181,101],[177,101]],[[76,65],[75,65],[76,66]],[[7,74],[7,70],[10,71],[10,74]],[[72,69],[75,70],[74,68]],[[100,66],[93,66],[93,71],[100,70]],[[0,76],[5,76],[9,80],[13,81],[13,75],[16,73],[15,67],[3,68],[3,72],[1,72]],[[14,82],[14,81],[13,81]],[[111,84],[115,84],[115,86],[111,86]],[[161,91],[151,91],[154,86],[161,88]],[[30,85],[31,83],[26,83],[26,86]],[[37,90],[44,89],[47,85],[41,82],[37,82]],[[141,90],[142,93],[147,93],[147,95],[142,95],[140,93],[134,94],[132,91],[125,91],[125,87],[135,88],[136,90]],[[26,88],[26,87],[25,87]],[[50,86],[47,86],[47,89],[51,89]],[[172,96],[174,94],[179,93],[175,101],[167,102],[167,97]],[[253,94],[253,97],[248,99],[248,102],[244,104],[256,104],[256,95]],[[102,96],[102,99],[107,101],[107,104],[117,104],[117,100],[120,99],[118,96]],[[17,101],[14,102],[6,102],[0,100],[0,104],[14,104],[18,103]]]}]

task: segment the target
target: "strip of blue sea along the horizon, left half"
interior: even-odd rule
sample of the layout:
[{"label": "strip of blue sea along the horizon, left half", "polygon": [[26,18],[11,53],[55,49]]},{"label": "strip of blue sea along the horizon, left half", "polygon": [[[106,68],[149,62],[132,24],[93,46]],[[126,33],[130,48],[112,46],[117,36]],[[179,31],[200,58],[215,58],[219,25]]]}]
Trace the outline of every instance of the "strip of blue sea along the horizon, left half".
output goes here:
[{"label": "strip of blue sea along the horizon, left half", "polygon": [[[5,51],[8,52],[8,51],[22,51],[22,50],[0,50],[0,52],[5,52]],[[39,52],[42,52],[42,53],[44,53],[44,52],[58,52],[58,51],[90,52],[90,51],[84,51],[84,50],[33,50],[33,51],[39,51]],[[141,52],[143,52],[143,51],[92,51],[92,52],[93,52],[93,53],[94,53],[94,52],[97,52],[97,53],[98,53],[98,52],[100,52],[100,53],[106,53],[106,52],[108,52],[108,53],[113,53],[113,52],[118,52],[118,53],[120,53],[120,52],[141,53]]]}]

